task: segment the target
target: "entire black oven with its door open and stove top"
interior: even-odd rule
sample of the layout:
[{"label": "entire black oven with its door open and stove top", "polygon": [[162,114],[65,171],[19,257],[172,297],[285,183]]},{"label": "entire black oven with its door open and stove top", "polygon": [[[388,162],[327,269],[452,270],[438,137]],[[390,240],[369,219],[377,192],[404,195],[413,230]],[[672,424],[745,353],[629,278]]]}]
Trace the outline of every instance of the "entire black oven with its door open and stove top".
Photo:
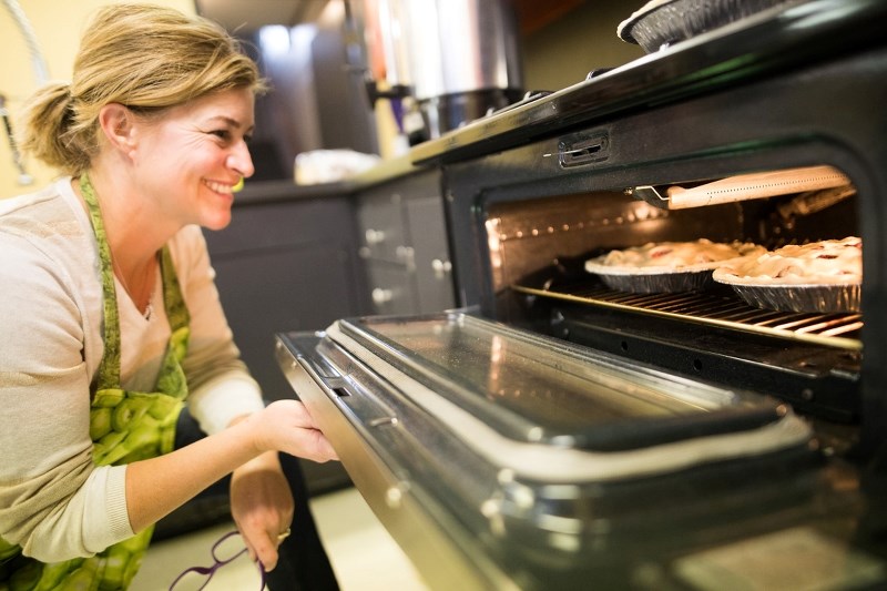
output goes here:
[{"label": "entire black oven with its door open and stove top", "polygon": [[[460,307],[281,334],[277,356],[429,587],[887,584],[885,17],[793,7],[414,149],[442,172]],[[840,182],[752,191],[812,171]],[[839,310],[585,268],[846,236],[864,278]]]}]

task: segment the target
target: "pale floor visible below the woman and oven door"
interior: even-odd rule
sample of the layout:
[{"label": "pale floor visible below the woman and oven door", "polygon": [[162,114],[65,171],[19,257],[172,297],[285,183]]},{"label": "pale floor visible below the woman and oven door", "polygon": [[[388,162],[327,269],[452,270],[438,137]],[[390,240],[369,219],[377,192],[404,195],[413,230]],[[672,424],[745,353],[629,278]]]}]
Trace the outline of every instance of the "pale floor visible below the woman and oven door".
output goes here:
[{"label": "pale floor visible below the woman and oven door", "polygon": [[[310,503],[341,591],[428,590],[356,489],[320,495]],[[223,523],[152,544],[130,591],[167,591],[184,569],[207,564],[213,542],[232,529]],[[218,570],[204,591],[253,591],[258,577],[243,557]]]}]

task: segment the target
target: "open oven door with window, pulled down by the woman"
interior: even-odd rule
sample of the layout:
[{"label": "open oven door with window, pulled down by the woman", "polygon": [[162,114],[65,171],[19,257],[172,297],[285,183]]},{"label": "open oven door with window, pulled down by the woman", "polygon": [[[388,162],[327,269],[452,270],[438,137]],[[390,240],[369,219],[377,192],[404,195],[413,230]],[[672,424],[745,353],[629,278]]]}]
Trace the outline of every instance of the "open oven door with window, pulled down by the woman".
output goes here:
[{"label": "open oven door with window, pulled down by the woman", "polygon": [[766,544],[801,542],[794,582],[836,549],[837,587],[885,577],[834,519],[854,491],[778,400],[460,310],[281,334],[277,356],[431,588],[706,589],[713,568],[757,588],[767,560],[785,571]]}]

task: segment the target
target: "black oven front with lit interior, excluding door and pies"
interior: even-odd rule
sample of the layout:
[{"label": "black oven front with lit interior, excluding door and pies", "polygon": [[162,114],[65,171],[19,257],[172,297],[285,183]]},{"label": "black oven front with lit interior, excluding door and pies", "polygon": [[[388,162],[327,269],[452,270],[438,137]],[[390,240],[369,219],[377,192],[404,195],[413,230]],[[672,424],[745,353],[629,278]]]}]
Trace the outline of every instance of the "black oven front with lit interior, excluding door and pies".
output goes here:
[{"label": "black oven front with lit interior, excluding door and pies", "polygon": [[[878,337],[887,330],[887,120],[877,114],[886,73],[887,50],[875,49],[447,165],[461,302],[489,318],[782,395],[858,425],[861,447],[876,451],[887,428],[887,345]],[[565,152],[594,137],[605,139],[594,159],[564,164]],[[636,192],[817,166],[849,177],[849,194],[815,207],[792,193],[671,210]],[[716,308],[717,293],[685,303],[686,313],[680,302],[578,295],[595,287],[582,263],[609,248],[846,236],[863,240],[861,307],[830,325],[733,322],[706,308]]]}]

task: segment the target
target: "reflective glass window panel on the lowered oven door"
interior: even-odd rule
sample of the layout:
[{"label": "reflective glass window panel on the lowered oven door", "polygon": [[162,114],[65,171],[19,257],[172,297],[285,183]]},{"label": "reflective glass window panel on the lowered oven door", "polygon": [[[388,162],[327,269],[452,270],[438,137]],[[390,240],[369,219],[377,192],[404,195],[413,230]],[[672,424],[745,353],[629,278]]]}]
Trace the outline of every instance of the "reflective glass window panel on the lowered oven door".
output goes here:
[{"label": "reflective glass window panel on the lowered oven door", "polygon": [[368,336],[374,353],[401,371],[518,439],[616,445],[626,438],[724,432],[778,418],[778,405],[763,397],[465,314],[363,318],[350,329]]}]

